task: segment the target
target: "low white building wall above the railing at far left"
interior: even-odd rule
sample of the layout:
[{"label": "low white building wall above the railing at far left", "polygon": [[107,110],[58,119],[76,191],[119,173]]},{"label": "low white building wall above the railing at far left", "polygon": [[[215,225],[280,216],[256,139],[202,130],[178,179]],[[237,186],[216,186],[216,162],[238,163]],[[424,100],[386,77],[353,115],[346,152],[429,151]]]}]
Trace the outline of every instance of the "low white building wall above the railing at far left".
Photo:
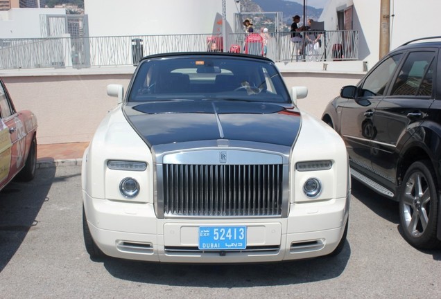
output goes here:
[{"label": "low white building wall above the railing at far left", "polygon": [[40,15],[66,15],[64,8],[12,8],[0,14],[0,38],[37,38]]}]

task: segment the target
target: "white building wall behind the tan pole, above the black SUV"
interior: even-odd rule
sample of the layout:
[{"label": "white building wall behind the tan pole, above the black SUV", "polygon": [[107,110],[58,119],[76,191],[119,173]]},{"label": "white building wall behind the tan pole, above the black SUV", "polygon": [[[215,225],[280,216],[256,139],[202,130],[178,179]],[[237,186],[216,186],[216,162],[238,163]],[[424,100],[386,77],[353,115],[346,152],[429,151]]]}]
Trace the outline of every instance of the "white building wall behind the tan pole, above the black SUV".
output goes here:
[{"label": "white building wall behind the tan pole, above the black SUV", "polygon": [[[380,0],[329,0],[320,21],[325,21],[325,30],[336,30],[337,11],[352,5],[358,59],[370,69],[380,59]],[[390,0],[390,15],[395,15],[390,17],[390,50],[411,39],[441,35],[440,12],[440,0]]]}]

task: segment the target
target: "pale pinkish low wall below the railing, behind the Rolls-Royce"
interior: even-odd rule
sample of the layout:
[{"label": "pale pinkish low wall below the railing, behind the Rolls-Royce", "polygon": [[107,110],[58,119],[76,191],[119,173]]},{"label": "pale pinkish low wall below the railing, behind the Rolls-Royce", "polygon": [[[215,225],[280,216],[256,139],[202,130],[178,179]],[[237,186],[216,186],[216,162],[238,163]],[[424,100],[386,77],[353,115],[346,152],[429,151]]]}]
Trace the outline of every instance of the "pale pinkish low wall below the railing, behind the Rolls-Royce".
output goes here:
[{"label": "pale pinkish low wall below the railing, behind the Rolls-Royce", "polygon": [[[37,116],[38,144],[76,143],[91,141],[103,117],[116,105],[116,98],[107,96],[107,84],[122,84],[127,90],[134,69],[21,70],[4,72],[2,78],[15,107],[29,109]],[[308,87],[308,97],[297,104],[320,118],[340,88],[356,84],[363,74],[300,71],[282,75],[289,89]]]}]

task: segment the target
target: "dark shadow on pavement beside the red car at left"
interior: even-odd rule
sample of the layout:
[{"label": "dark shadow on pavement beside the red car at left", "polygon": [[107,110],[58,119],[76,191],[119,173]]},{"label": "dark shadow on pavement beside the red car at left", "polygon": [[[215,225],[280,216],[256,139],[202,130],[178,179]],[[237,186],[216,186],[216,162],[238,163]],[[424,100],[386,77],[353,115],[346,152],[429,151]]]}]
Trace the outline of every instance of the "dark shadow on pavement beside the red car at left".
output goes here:
[{"label": "dark shadow on pavement beside the red car at left", "polygon": [[38,229],[37,215],[47,199],[55,171],[55,167],[38,168],[33,181],[12,181],[0,191],[0,272],[28,231]]}]

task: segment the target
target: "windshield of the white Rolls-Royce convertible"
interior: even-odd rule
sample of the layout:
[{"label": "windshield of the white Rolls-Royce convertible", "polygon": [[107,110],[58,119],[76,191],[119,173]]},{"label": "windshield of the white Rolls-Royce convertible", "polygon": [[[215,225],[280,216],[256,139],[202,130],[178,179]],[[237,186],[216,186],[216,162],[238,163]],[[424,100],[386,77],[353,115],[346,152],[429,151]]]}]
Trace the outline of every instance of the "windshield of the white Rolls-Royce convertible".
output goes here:
[{"label": "windshield of the white Rolls-Royce convertible", "polygon": [[272,62],[228,56],[153,58],[141,62],[129,102],[241,100],[291,103]]}]

